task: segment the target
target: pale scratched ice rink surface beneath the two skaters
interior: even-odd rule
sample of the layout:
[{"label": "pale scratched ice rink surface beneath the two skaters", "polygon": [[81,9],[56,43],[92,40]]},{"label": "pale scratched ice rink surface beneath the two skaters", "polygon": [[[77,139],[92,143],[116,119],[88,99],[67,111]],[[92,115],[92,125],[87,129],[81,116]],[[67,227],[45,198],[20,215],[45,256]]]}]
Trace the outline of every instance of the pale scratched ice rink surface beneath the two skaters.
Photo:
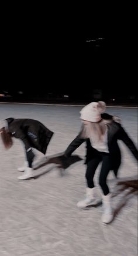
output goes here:
[{"label": "pale scratched ice rink surface beneath the two skaters", "polygon": [[[37,119],[54,132],[46,156],[63,152],[80,131],[80,106],[0,104],[0,119]],[[108,107],[120,116],[122,126],[137,146],[137,109]],[[1,256],[137,256],[137,162],[123,142],[119,178],[109,173],[115,218],[101,223],[102,206],[79,210],[85,195],[85,143],[73,154],[81,161],[64,175],[56,164],[34,170],[39,178],[19,181],[17,168],[23,164],[20,140],[6,151],[0,143],[0,255]],[[37,151],[34,167],[46,160]],[[98,185],[99,169],[95,184]],[[40,175],[41,174],[41,175]]]}]

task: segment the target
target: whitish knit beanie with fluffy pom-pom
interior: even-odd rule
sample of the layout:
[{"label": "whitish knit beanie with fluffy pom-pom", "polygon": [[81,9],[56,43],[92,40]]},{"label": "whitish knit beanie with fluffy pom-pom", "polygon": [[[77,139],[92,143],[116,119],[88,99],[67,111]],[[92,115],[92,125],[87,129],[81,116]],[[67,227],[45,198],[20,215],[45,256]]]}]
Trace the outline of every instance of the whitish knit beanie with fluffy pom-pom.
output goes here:
[{"label": "whitish knit beanie with fluffy pom-pom", "polygon": [[83,107],[80,118],[89,122],[99,122],[102,119],[101,113],[105,112],[105,109],[105,102],[91,102]]}]

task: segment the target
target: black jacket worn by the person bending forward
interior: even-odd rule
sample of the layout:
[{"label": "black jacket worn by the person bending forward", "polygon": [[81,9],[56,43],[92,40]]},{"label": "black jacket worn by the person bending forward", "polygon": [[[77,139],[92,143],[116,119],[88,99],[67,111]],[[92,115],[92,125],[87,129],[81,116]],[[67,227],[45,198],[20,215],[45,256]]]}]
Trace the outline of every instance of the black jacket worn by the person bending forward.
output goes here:
[{"label": "black jacket worn by the person bending forward", "polygon": [[42,123],[33,119],[6,119],[11,136],[22,140],[25,149],[33,147],[46,154],[47,146],[53,136],[53,132]]}]

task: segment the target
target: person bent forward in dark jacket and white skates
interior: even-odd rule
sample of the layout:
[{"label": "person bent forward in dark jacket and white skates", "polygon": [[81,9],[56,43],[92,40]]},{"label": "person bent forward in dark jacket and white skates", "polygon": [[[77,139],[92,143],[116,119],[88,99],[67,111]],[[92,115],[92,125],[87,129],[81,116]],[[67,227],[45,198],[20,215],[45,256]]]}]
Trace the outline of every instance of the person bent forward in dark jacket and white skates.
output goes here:
[{"label": "person bent forward in dark jacket and white skates", "polygon": [[25,146],[26,161],[18,171],[24,171],[19,180],[26,180],[33,177],[32,163],[34,159],[33,149],[46,154],[47,146],[53,136],[47,127],[33,119],[8,118],[0,122],[0,133],[5,149],[10,149],[13,144],[12,137],[22,140]]}]

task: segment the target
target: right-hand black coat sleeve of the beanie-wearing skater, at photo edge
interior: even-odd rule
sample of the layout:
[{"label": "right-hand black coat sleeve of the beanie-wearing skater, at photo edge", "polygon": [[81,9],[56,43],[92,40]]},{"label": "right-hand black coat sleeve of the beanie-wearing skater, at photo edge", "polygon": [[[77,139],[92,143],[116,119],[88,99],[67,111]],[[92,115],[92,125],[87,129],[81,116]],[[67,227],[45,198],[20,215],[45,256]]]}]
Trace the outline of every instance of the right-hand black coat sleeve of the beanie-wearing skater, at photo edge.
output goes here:
[{"label": "right-hand black coat sleeve of the beanie-wearing skater, at photo edge", "polygon": [[134,143],[132,142],[130,137],[127,135],[127,133],[125,132],[122,126],[120,126],[118,139],[122,140],[126,144],[126,146],[130,149],[130,151],[132,151],[133,156],[136,158],[136,160],[138,160],[138,151],[136,149],[136,146],[134,146]]}]

